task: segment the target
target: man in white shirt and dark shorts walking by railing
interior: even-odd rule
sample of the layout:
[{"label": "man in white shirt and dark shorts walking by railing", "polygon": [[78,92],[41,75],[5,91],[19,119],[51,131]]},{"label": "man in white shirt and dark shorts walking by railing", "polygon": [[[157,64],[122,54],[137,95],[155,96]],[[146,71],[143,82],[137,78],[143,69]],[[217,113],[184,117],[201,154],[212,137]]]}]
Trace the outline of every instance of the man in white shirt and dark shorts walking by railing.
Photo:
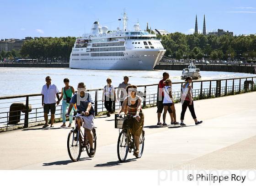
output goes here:
[{"label": "man in white shirt and dark shorts walking by railing", "polygon": [[56,97],[58,99],[57,104],[59,104],[59,90],[56,87],[55,84],[51,84],[52,79],[47,76],[45,78],[46,84],[43,85],[41,94],[43,94],[42,97],[42,105],[43,105],[43,113],[44,113],[44,120],[45,125],[43,125],[43,128],[48,127],[48,114],[51,110],[51,127],[53,127],[54,122],[54,114],[56,110]]}]

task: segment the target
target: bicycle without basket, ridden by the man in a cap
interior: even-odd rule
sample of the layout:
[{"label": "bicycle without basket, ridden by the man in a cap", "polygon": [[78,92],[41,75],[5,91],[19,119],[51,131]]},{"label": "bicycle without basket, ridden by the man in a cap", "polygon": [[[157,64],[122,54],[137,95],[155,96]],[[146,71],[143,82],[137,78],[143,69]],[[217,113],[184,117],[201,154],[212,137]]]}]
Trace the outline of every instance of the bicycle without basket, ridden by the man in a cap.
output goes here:
[{"label": "bicycle without basket, ridden by the man in a cap", "polygon": [[[84,115],[84,112],[82,112],[81,114]],[[89,157],[95,156],[95,153],[96,153],[96,130],[95,130],[96,127],[93,127],[92,129],[92,140],[93,140],[92,148],[95,150],[95,152],[93,154],[90,154],[90,144],[89,144],[87,134],[85,130],[83,133],[81,128],[78,127],[76,119],[77,117],[75,117],[75,128],[72,127],[72,130],[70,130],[68,135],[68,141],[67,141],[68,153],[72,161],[79,161],[81,153],[85,150]]]}]

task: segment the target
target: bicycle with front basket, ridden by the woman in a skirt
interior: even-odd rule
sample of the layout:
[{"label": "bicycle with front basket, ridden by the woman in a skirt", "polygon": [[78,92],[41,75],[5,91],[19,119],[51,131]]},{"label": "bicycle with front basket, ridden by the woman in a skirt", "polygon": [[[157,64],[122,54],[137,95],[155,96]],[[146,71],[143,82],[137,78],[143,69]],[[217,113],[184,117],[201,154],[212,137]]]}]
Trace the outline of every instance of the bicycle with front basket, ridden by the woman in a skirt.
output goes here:
[{"label": "bicycle with front basket, ridden by the woman in a skirt", "polygon": [[[117,157],[120,162],[124,162],[127,158],[128,152],[135,151],[135,142],[132,133],[130,132],[129,127],[123,126],[124,119],[127,118],[127,115],[124,117],[119,114],[115,114],[115,128],[119,129],[119,136],[117,140]],[[120,132],[120,130],[122,131]],[[143,154],[144,150],[144,140],[145,140],[145,132],[144,129],[139,136],[139,155],[135,156],[136,158],[140,158]]]}]

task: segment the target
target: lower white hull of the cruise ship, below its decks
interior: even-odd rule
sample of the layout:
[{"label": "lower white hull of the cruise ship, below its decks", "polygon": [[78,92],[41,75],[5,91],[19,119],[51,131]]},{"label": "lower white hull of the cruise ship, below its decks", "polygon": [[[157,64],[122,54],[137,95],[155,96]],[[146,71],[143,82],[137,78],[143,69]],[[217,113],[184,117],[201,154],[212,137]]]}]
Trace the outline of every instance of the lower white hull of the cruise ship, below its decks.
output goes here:
[{"label": "lower white hull of the cruise ship, below its decks", "polygon": [[70,59],[69,68],[97,70],[152,70],[164,56],[165,49],[153,49],[147,51],[126,50],[125,54],[128,55],[122,57],[89,57],[88,60],[81,60],[82,58],[80,60]]}]

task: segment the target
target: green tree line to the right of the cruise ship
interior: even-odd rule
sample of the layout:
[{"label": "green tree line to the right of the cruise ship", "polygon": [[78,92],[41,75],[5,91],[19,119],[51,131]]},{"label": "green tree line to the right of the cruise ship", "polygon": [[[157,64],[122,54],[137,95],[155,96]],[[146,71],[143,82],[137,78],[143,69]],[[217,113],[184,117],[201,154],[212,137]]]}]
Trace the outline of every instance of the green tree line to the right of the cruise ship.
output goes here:
[{"label": "green tree line to the right of the cruise ship", "polygon": [[256,36],[185,35],[180,32],[158,36],[166,49],[165,56],[176,59],[254,59]]}]

